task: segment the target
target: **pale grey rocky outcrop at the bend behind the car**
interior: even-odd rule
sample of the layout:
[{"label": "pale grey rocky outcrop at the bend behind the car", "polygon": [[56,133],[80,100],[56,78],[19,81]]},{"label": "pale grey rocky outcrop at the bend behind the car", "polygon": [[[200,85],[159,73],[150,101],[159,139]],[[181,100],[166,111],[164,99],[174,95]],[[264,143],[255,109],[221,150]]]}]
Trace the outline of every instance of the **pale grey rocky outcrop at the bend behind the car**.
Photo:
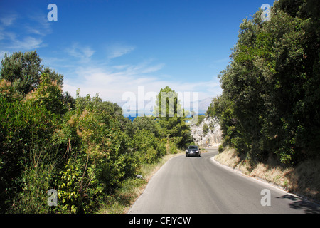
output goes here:
[{"label": "pale grey rocky outcrop at the bend behind the car", "polygon": [[[203,126],[205,127],[203,128]],[[218,145],[222,139],[218,121],[210,117],[205,118],[200,125],[191,125],[191,135],[193,136],[193,141],[201,147],[213,147]]]}]

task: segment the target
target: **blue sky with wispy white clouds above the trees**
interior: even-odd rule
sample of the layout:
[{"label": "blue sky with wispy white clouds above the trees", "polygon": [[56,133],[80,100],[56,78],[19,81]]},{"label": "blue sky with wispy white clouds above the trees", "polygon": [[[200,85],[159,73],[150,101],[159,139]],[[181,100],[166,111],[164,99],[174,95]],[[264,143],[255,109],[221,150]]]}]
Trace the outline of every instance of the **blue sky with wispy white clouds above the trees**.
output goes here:
[{"label": "blue sky with wispy white clouds above the trees", "polygon": [[[221,93],[218,73],[230,61],[242,19],[273,0],[0,1],[0,58],[33,51],[75,95],[117,102],[125,92],[170,86]],[[58,21],[48,21],[48,4]]]}]

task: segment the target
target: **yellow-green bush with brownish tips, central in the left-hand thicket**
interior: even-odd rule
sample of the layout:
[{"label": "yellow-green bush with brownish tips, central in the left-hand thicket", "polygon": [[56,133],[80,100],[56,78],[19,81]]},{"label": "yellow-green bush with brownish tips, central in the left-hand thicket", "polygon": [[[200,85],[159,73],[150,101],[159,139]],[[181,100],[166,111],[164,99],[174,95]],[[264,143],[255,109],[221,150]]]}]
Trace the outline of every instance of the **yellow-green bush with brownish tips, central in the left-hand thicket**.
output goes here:
[{"label": "yellow-green bush with brownish tips, central in the left-hand thicket", "polygon": [[62,127],[54,135],[56,146],[67,148],[64,157],[68,164],[61,168],[56,181],[64,199],[62,211],[91,212],[105,195],[134,174],[137,163],[126,133],[132,123],[126,127],[122,120],[119,106],[103,102],[98,95],[78,95],[75,109],[65,114]]}]

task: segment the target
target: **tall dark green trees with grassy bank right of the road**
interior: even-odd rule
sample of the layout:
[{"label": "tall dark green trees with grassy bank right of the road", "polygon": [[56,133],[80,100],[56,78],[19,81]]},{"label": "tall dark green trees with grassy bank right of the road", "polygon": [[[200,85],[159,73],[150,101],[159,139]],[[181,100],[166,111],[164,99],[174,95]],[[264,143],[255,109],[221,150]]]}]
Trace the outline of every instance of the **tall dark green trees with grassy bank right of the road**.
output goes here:
[{"label": "tall dark green trees with grassy bank right of the road", "polygon": [[[225,151],[225,157],[218,159],[319,199],[316,9],[319,1],[279,0],[270,21],[262,21],[261,10],[244,19],[230,65],[220,73],[223,93],[213,99],[207,115],[218,118],[223,130],[219,152]],[[258,167],[265,170],[261,175],[255,173]],[[267,172],[275,170],[281,175]]]}]

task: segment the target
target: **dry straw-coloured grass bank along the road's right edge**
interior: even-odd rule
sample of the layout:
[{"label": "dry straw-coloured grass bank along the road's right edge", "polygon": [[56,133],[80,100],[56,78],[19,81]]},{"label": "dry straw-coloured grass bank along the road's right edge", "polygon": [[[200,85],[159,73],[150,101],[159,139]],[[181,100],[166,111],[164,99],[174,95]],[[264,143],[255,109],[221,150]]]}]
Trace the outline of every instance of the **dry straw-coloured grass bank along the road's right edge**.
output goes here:
[{"label": "dry straw-coloured grass bank along the road's right edge", "polygon": [[297,167],[283,167],[272,159],[267,163],[252,165],[229,147],[217,155],[215,160],[250,177],[266,180],[289,192],[320,201],[320,160],[306,160]]}]

